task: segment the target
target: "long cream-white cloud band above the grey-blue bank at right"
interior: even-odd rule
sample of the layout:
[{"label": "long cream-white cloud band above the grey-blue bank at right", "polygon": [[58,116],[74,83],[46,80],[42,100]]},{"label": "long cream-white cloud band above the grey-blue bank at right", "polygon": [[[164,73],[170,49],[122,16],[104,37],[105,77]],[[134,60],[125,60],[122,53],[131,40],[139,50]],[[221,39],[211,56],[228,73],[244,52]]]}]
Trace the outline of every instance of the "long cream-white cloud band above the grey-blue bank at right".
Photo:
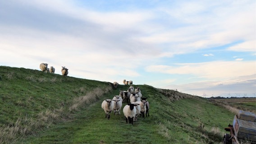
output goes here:
[{"label": "long cream-white cloud band above the grey-blue bank at right", "polygon": [[214,61],[207,63],[176,63],[169,65],[151,65],[146,67],[147,72],[167,74],[193,75],[207,79],[227,79],[252,75],[255,73],[255,61]]}]

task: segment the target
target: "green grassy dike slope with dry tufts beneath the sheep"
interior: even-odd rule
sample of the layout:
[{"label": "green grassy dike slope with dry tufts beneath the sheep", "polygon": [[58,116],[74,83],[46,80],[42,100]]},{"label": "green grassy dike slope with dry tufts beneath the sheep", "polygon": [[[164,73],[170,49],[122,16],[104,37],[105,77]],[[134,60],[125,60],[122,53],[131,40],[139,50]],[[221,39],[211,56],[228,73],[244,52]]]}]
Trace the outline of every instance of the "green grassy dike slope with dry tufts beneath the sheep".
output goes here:
[{"label": "green grassy dike slope with dry tufts beneath the sheep", "polygon": [[219,144],[233,120],[234,113],[207,99],[134,86],[148,97],[150,117],[131,125],[122,110],[107,120],[101,108],[128,86],[0,66],[0,143]]}]

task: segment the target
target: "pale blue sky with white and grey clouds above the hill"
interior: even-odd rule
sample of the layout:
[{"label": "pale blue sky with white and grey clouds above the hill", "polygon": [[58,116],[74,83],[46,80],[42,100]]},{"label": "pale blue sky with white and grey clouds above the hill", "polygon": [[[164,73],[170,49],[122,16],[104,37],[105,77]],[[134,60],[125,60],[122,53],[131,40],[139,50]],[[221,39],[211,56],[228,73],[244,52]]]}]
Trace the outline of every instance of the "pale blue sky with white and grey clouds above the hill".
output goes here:
[{"label": "pale blue sky with white and grey clouds above the hill", "polygon": [[0,0],[0,65],[40,63],[83,79],[256,97],[256,1]]}]

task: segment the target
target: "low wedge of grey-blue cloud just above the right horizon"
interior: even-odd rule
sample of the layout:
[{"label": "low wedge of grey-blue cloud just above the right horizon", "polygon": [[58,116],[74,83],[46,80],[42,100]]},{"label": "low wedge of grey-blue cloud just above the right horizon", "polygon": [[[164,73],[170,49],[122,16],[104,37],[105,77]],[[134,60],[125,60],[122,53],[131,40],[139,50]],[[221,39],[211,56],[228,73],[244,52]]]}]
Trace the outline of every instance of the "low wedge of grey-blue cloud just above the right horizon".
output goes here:
[{"label": "low wedge of grey-blue cloud just above the right horizon", "polygon": [[181,85],[169,85],[166,89],[178,89],[183,93],[195,94],[206,97],[223,96],[231,97],[244,96],[255,97],[256,74],[249,76],[238,76],[226,81],[200,81]]}]

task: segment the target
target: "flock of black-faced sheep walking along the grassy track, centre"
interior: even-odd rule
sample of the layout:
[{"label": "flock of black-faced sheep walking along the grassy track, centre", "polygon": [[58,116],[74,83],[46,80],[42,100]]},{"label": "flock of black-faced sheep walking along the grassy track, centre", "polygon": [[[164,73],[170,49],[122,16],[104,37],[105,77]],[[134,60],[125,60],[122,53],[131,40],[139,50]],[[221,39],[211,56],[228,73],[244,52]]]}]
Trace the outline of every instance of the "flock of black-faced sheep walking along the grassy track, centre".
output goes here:
[{"label": "flock of black-faced sheep walking along the grassy track, centre", "polygon": [[[114,82],[114,87],[116,88],[118,83]],[[133,124],[137,121],[138,116],[143,118],[149,117],[149,102],[147,98],[142,97],[142,92],[140,87],[133,87],[133,81],[123,80],[124,85],[130,84],[128,90],[119,90],[119,95],[115,95],[113,99],[106,99],[101,103],[101,108],[105,111],[105,118],[110,119],[110,113],[114,111],[114,115],[120,115],[120,111],[123,103],[127,103],[123,107],[123,114],[126,122]]]}]

